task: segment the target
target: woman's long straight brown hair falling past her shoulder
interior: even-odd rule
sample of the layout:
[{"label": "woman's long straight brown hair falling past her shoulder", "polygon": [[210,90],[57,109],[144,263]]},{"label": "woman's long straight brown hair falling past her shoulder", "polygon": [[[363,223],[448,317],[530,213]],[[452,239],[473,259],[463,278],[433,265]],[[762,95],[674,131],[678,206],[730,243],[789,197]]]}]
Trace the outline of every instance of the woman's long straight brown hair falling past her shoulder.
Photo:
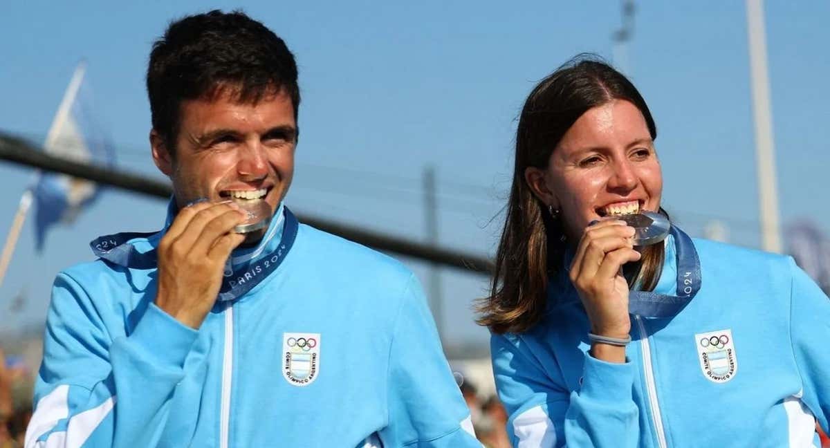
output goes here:
[{"label": "woman's long straight brown hair falling past her shoulder", "polygon": [[[516,130],[513,183],[491,294],[480,299],[477,307],[481,313],[477,322],[492,332],[520,333],[542,319],[548,280],[563,269],[567,246],[576,244],[566,240],[559,218],[530,190],[525,169],[546,168],[550,154],[574,122],[587,110],[613,100],[637,106],[652,139],[657,139],[646,101],[625,76],[597,56],[579,55],[559,67],[525,101]],[[641,290],[653,290],[664,256],[662,244],[648,246],[641,260],[624,270],[629,286],[637,282]]]}]

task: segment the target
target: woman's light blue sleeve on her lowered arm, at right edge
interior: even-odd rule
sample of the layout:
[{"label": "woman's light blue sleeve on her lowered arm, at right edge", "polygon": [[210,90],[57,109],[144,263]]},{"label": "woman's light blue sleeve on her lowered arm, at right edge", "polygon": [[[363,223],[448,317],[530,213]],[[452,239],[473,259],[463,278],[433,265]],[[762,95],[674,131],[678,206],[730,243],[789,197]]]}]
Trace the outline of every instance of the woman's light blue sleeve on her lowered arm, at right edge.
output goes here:
[{"label": "woman's light blue sleeve on her lowered arm, at right edge", "polygon": [[790,338],[803,384],[801,400],[825,432],[830,431],[830,299],[789,259]]}]

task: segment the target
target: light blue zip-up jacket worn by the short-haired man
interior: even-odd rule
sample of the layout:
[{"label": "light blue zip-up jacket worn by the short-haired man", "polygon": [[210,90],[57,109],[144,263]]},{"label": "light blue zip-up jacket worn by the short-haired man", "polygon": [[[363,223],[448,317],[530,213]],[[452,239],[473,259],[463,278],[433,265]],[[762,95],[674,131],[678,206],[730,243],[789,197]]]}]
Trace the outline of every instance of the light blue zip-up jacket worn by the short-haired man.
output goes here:
[{"label": "light blue zip-up jacket worn by the short-haired man", "polygon": [[163,233],[57,276],[27,447],[481,446],[403,265],[281,207],[197,331],[153,303]]}]

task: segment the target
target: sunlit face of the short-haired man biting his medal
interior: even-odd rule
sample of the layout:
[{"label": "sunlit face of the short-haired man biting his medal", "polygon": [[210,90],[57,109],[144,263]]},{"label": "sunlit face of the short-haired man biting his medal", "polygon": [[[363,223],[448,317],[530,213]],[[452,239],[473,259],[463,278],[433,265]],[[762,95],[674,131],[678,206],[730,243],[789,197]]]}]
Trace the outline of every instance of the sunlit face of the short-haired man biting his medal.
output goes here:
[{"label": "sunlit face of the short-haired man biting his medal", "polygon": [[291,97],[281,91],[256,104],[230,95],[186,100],[180,107],[175,157],[155,131],[153,157],[173,181],[178,207],[199,198],[261,198],[276,212],[294,173],[297,126]]}]

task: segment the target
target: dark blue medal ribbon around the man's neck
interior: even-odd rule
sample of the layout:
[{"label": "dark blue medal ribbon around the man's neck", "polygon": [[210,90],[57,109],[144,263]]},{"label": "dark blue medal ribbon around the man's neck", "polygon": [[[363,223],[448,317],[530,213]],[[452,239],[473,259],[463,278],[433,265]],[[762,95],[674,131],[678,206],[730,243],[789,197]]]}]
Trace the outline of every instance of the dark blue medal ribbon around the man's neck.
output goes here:
[{"label": "dark blue medal ribbon around the man's neck", "polygon": [[[272,251],[257,257],[256,260],[247,261],[241,266],[234,266],[234,270],[230,275],[226,272],[225,277],[222,279],[222,286],[219,288],[217,300],[233,300],[245,295],[254,286],[258,285],[262,280],[265,280],[286,259],[286,255],[291,251],[291,246],[294,245],[300,223],[297,222],[297,218],[288,207],[283,208],[286,221],[280,243]],[[90,247],[95,253],[95,256],[99,256],[101,259],[110,261],[110,263],[114,263],[115,265],[125,266],[131,269],[155,269],[158,267],[156,249],[153,248],[151,251],[141,252],[129,241],[136,238],[153,238],[154,236],[160,235],[161,232],[117,233],[115,235],[96,238],[90,242]]]}]

